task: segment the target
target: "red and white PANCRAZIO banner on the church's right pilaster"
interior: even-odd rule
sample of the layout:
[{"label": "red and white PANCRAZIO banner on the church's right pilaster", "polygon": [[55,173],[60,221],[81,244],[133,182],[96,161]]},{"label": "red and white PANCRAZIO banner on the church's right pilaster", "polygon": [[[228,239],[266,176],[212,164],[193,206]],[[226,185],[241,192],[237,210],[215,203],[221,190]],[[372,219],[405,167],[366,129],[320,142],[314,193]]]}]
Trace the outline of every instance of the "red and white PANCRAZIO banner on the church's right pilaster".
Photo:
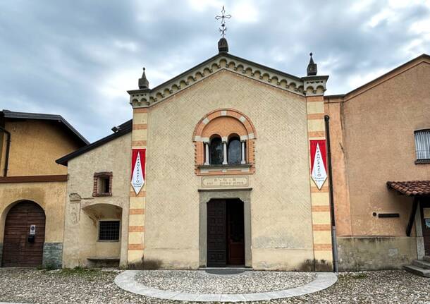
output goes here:
[{"label": "red and white PANCRAZIO banner on the church's right pilaster", "polygon": [[311,177],[318,189],[327,179],[326,140],[310,140],[311,145]]}]

